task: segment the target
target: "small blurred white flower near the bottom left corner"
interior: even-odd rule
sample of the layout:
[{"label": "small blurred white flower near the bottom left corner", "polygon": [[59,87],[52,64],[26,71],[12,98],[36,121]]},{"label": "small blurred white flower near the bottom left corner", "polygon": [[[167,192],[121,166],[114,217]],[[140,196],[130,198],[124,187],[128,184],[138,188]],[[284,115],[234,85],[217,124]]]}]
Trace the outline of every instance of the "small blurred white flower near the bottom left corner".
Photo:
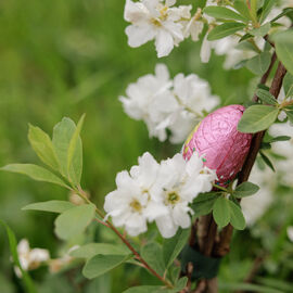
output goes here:
[{"label": "small blurred white flower near the bottom left corner", "polygon": [[[41,249],[30,250],[29,243],[26,239],[22,239],[17,244],[17,254],[23,270],[36,269],[42,263],[50,259],[49,251]],[[16,276],[22,278],[22,271],[20,268],[15,266],[14,270]]]}]

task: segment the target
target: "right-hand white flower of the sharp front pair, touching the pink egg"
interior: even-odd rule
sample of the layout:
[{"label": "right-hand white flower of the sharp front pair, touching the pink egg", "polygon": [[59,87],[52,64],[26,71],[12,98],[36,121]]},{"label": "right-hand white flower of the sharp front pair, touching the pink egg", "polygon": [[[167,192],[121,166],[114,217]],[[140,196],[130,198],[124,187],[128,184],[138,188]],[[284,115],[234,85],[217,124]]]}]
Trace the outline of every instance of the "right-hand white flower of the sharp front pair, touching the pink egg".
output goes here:
[{"label": "right-hand white flower of the sharp front pair, touching the pink egg", "polygon": [[181,154],[162,162],[154,200],[168,208],[167,215],[155,219],[164,238],[174,237],[179,227],[190,227],[192,209],[189,204],[200,192],[211,191],[215,180],[216,173],[204,167],[196,153],[193,153],[189,162]]}]

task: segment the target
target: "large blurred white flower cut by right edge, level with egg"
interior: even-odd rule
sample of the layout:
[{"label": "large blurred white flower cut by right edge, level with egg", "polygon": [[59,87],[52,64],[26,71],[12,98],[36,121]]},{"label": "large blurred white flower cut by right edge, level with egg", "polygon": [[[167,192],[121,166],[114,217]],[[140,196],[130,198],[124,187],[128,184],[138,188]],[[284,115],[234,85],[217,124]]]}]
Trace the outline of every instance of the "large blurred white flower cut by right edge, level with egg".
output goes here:
[{"label": "large blurred white flower cut by right edge, level with egg", "polygon": [[291,140],[277,141],[271,144],[275,153],[284,157],[284,160],[276,160],[275,166],[280,175],[280,182],[285,186],[293,187],[293,126],[288,123],[273,124],[269,128],[269,133],[273,137],[288,136]]}]

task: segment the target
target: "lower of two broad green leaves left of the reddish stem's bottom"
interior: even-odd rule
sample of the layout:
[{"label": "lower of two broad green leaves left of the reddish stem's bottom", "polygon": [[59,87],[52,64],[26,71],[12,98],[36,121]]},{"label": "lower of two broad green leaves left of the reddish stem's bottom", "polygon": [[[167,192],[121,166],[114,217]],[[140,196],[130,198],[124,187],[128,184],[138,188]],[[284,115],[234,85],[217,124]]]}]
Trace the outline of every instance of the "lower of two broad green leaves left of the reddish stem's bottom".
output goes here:
[{"label": "lower of two broad green leaves left of the reddish stem's bottom", "polygon": [[105,272],[116,268],[129,259],[127,255],[102,255],[98,254],[89,258],[82,269],[82,275],[88,279],[97,278]]}]

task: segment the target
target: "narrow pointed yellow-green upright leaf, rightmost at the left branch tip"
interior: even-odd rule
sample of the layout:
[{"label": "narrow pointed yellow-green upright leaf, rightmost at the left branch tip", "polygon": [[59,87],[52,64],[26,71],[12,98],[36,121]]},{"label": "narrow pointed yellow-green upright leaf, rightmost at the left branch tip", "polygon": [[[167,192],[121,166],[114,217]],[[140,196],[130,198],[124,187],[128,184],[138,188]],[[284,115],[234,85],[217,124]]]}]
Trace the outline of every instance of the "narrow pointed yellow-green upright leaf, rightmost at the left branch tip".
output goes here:
[{"label": "narrow pointed yellow-green upright leaf, rightmost at the left branch tip", "polygon": [[[71,169],[74,168],[73,158],[74,158],[74,155],[75,155],[75,152],[76,152],[76,149],[77,149],[77,144],[80,143],[79,133],[80,133],[82,125],[84,125],[85,116],[86,116],[86,114],[84,114],[80,117],[80,119],[79,119],[79,122],[77,124],[77,127],[76,127],[76,129],[75,129],[75,131],[73,133],[73,137],[71,139],[69,145],[68,145],[68,153],[67,153],[67,175],[68,175],[68,178],[71,178],[71,176],[72,176]],[[76,162],[76,163],[81,164],[81,165],[78,166],[78,168],[82,169],[82,160],[79,158],[78,162]],[[81,170],[80,170],[80,173],[81,173]],[[75,176],[74,176],[74,178],[71,178],[72,181],[75,182],[76,184],[79,184],[80,178],[76,177],[75,173],[73,173],[73,174]]]}]

